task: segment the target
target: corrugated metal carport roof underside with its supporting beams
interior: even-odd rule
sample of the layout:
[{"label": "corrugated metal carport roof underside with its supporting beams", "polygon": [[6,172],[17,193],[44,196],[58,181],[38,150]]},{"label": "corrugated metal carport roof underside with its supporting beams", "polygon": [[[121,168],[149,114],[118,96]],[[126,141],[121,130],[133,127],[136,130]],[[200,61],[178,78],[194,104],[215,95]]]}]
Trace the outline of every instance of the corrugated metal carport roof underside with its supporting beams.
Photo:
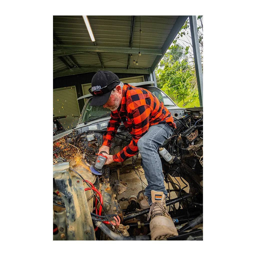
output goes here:
[{"label": "corrugated metal carport roof underside with its supporting beams", "polygon": [[143,70],[149,74],[188,17],[184,14],[87,15],[95,42],[91,41],[81,14],[53,15],[53,78],[98,69],[119,73]]}]

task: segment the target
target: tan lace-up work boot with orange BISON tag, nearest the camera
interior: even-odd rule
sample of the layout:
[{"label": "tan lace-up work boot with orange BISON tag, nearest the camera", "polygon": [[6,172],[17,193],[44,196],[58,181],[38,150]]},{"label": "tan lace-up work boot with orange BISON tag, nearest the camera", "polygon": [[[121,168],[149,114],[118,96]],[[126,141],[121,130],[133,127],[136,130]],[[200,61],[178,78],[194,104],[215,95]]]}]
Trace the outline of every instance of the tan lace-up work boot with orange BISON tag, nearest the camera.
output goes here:
[{"label": "tan lace-up work boot with orange BISON tag, nearest the camera", "polygon": [[168,237],[178,236],[177,229],[165,205],[164,192],[151,190],[152,205],[147,217],[151,217],[151,240],[167,240]]}]

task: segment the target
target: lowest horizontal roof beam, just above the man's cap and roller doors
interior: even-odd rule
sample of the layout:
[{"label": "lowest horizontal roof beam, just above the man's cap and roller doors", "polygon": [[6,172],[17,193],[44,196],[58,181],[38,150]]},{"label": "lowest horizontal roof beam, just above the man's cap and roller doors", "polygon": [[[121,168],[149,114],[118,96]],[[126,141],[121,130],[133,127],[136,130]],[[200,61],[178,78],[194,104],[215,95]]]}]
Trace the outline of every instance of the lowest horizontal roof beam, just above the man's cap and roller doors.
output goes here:
[{"label": "lowest horizontal roof beam, just above the man's cap and roller doors", "polygon": [[113,73],[126,73],[126,74],[149,74],[148,69],[126,69],[126,68],[71,68],[68,70],[56,72],[52,74],[52,78],[57,78],[57,77],[65,77],[65,76],[72,76],[76,74],[83,74],[83,73],[90,73],[90,72],[97,72],[98,70],[109,70],[112,71]]}]

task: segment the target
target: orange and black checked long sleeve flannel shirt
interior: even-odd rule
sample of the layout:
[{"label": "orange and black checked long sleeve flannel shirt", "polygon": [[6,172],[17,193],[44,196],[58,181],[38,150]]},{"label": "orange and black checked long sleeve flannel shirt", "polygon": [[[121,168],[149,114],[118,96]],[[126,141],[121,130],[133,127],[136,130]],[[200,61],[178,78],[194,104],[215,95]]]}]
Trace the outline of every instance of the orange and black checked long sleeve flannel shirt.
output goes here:
[{"label": "orange and black checked long sleeve flannel shirt", "polygon": [[163,102],[148,90],[130,84],[124,84],[121,105],[117,110],[111,112],[111,119],[103,136],[102,145],[111,147],[111,141],[122,121],[132,134],[132,141],[119,153],[113,155],[115,162],[123,162],[138,153],[137,142],[147,133],[151,125],[168,123],[176,128],[173,117]]}]

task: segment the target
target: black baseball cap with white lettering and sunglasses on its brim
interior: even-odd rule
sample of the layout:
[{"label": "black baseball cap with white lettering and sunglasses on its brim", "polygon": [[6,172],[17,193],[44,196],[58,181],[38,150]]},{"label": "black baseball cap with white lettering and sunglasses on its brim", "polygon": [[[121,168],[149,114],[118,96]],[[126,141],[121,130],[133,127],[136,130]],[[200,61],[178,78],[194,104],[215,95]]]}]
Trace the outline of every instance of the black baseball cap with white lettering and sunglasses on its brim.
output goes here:
[{"label": "black baseball cap with white lettering and sunglasses on its brim", "polygon": [[110,97],[112,90],[120,84],[116,74],[111,71],[99,70],[92,78],[92,87],[89,92],[93,95],[90,105],[102,106]]}]

